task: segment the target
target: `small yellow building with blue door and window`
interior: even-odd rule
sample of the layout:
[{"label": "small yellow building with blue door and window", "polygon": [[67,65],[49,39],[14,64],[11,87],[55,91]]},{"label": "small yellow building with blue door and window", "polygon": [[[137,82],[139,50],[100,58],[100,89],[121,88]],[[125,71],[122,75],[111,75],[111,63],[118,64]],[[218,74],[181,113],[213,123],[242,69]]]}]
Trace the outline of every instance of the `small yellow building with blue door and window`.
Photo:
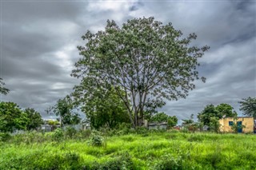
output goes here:
[{"label": "small yellow building with blue door and window", "polygon": [[232,126],[234,124],[242,125],[238,128],[238,132],[254,132],[254,117],[225,117],[220,119],[220,132],[234,132]]}]

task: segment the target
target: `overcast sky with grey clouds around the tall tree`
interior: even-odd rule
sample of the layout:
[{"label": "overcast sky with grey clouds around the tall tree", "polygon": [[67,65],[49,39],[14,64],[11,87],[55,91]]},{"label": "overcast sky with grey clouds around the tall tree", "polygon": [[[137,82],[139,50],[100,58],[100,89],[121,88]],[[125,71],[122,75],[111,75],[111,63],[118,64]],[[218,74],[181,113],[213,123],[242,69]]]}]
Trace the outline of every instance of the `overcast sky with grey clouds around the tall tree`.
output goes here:
[{"label": "overcast sky with grey clouds around the tall tree", "polygon": [[[1,1],[1,0],[0,0]],[[200,59],[206,83],[186,99],[167,101],[162,108],[187,119],[209,104],[256,96],[255,1],[1,1],[0,77],[10,89],[2,101],[22,108],[45,109],[72,92],[79,81],[70,77],[78,61],[78,45],[86,30],[103,30],[106,20],[119,26],[127,19],[154,16],[184,35],[196,33],[194,45],[209,45]]]}]

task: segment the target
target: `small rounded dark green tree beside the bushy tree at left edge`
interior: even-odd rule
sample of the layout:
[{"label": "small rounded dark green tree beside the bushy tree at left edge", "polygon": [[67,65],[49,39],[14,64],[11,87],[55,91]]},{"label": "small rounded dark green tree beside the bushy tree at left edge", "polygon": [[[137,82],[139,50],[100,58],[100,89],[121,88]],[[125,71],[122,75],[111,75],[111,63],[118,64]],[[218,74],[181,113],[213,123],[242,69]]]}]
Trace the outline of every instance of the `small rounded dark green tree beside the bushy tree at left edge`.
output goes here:
[{"label": "small rounded dark green tree beside the bushy tree at left edge", "polygon": [[24,113],[26,113],[26,116],[28,118],[27,125],[26,125],[27,130],[34,130],[43,124],[40,113],[38,113],[34,109],[30,109],[30,108],[25,109]]}]

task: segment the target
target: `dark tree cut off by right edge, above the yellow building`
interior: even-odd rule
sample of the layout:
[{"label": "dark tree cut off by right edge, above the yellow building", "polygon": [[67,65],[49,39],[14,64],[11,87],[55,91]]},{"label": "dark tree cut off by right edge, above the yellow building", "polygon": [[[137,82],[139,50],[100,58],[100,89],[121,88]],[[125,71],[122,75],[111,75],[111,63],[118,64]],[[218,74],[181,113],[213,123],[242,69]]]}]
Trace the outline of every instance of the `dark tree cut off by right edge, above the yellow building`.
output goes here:
[{"label": "dark tree cut off by right edge, above the yellow building", "polygon": [[240,104],[240,110],[244,115],[254,117],[256,119],[256,97],[247,97],[238,101]]}]

